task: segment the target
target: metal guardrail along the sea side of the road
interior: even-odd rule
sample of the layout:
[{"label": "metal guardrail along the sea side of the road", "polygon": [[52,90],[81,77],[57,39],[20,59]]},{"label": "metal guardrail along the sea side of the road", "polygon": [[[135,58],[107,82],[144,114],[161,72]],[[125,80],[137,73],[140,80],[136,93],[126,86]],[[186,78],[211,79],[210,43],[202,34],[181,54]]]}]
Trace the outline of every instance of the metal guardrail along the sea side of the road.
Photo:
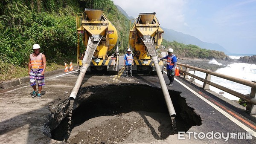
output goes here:
[{"label": "metal guardrail along the sea side of the road", "polygon": [[[230,93],[231,95],[234,95],[238,98],[241,98],[242,100],[248,102],[247,107],[246,107],[246,111],[250,112],[250,114],[254,114],[254,115],[256,114],[256,81],[247,81],[247,80],[244,80],[244,79],[241,79],[241,78],[235,78],[235,77],[232,77],[232,76],[229,76],[229,75],[224,75],[224,74],[221,74],[221,73],[218,73],[218,72],[212,72],[209,69],[201,69],[201,68],[198,68],[198,67],[189,66],[188,64],[177,63],[177,65],[185,67],[185,70],[179,69],[179,71],[184,74],[185,79],[188,79],[188,75],[189,75],[192,78],[196,78],[199,81],[204,82],[204,84],[203,84],[204,89],[209,89],[209,85],[211,85],[211,86],[214,86],[218,89],[223,90],[224,92]],[[204,73],[206,73],[206,76],[205,76],[205,78],[200,78],[200,77],[198,77],[194,74],[189,73],[189,69],[204,72]],[[211,81],[211,75],[214,75],[216,77],[223,78],[223,79],[226,79],[226,80],[229,80],[229,81],[233,81],[233,82],[236,82],[236,83],[239,83],[239,84],[243,84],[245,86],[250,86],[251,87],[250,95],[249,96],[244,95],[244,94],[236,92],[232,89],[228,89],[225,86],[221,86],[219,84],[213,83]]]}]

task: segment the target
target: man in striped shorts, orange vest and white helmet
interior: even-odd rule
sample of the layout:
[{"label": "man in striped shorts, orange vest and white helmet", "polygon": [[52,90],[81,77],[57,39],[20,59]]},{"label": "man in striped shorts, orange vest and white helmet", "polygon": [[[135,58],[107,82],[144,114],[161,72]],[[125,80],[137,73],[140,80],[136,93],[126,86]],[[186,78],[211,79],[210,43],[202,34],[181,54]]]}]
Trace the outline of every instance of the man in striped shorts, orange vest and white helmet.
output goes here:
[{"label": "man in striped shorts, orange vest and white helmet", "polygon": [[[46,69],[45,55],[40,53],[39,44],[33,45],[34,52],[29,55],[29,79],[30,86],[34,89],[31,97],[41,98],[42,86],[44,86],[44,72]],[[36,80],[38,83],[38,90],[36,89]]]}]

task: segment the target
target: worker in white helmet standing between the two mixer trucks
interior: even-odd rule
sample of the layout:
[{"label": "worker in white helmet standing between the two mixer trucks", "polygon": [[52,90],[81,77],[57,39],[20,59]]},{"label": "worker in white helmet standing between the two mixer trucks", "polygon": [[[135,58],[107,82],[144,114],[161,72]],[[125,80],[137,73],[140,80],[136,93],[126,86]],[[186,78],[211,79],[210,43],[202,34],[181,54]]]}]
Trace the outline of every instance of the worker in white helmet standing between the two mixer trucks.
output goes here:
[{"label": "worker in white helmet standing between the two mixer trucks", "polygon": [[126,77],[128,77],[128,74],[130,74],[130,76],[133,77],[132,76],[132,65],[134,65],[134,63],[133,63],[133,56],[131,54],[131,49],[127,49],[127,54],[125,54],[125,57],[124,57],[124,66],[125,66]]}]

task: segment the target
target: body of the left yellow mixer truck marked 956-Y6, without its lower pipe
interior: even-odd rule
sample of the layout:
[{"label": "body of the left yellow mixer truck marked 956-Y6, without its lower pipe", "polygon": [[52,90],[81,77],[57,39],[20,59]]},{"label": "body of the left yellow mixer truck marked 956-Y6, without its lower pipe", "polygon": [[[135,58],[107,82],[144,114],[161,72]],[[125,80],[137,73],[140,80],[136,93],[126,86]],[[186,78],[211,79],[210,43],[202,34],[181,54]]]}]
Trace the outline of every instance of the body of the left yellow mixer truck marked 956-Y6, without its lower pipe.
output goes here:
[{"label": "body of the left yellow mixer truck marked 956-Y6, without its lower pipe", "polygon": [[[78,33],[77,61],[80,68],[83,63],[90,63],[87,72],[107,71],[118,74],[119,53],[114,50],[117,42],[117,32],[113,24],[107,19],[102,10],[85,9],[84,13],[76,15],[76,29]],[[80,35],[86,51],[80,52]],[[86,60],[84,56],[88,55]]]}]

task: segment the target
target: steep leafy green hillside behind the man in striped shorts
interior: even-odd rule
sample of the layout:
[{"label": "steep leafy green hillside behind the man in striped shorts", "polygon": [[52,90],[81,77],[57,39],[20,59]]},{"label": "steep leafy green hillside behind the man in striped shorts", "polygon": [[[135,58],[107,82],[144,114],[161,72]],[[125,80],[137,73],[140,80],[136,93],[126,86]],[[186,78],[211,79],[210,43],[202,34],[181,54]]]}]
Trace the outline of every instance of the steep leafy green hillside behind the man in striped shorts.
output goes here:
[{"label": "steep leafy green hillside behind the man in striped shorts", "polygon": [[119,50],[124,52],[128,46],[129,20],[111,0],[2,0],[0,81],[27,75],[34,43],[41,46],[47,57],[47,71],[59,69],[65,60],[76,62],[76,14],[85,8],[103,9],[116,26]]}]

